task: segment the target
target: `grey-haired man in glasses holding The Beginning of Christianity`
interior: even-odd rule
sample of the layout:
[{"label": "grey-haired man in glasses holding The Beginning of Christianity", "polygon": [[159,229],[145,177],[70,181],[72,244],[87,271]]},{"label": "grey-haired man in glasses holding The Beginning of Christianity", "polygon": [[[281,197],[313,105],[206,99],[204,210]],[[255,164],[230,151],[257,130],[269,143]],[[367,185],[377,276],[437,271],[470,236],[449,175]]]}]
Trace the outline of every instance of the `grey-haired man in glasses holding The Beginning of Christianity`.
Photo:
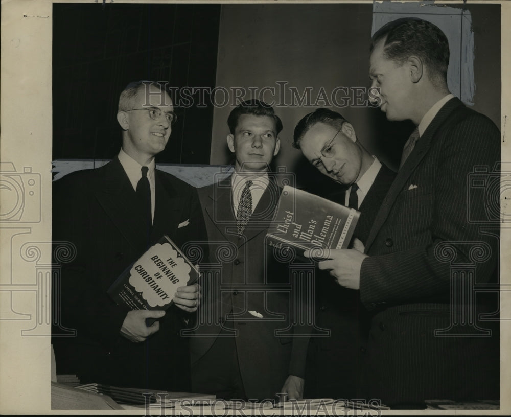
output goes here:
[{"label": "grey-haired man in glasses holding The Beginning of Christianity", "polygon": [[[76,248],[75,259],[62,265],[54,306],[61,302],[61,323],[77,334],[59,338],[54,331],[53,343],[58,372],[82,383],[190,390],[188,341],[180,330],[197,309],[198,285],[180,287],[166,312],[128,311],[106,293],[162,235],[178,246],[205,238],[196,190],[155,169],[175,119],[159,84],[129,84],[119,99],[118,156],[54,184],[53,240]],[[148,318],[156,321],[147,326]]]}]

